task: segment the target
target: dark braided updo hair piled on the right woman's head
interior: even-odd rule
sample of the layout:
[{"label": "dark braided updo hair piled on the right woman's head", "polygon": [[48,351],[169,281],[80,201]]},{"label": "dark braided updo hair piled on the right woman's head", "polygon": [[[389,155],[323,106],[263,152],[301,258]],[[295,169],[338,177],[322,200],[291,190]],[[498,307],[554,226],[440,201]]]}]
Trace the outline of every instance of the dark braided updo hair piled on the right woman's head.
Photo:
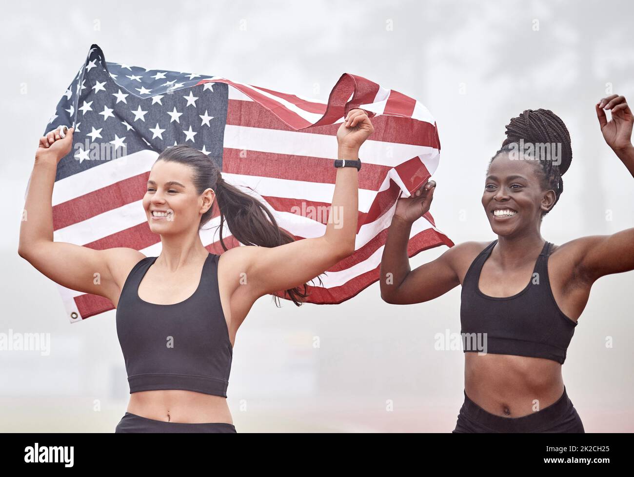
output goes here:
[{"label": "dark braided updo hair piled on the right woman's head", "polygon": [[[561,162],[556,164],[552,158],[541,157],[539,159],[545,160],[533,160],[538,167],[538,177],[540,178],[541,187],[544,190],[552,189],[555,191],[555,203],[552,207],[555,207],[559,196],[564,192],[564,179],[562,175],[566,173],[573,161],[573,150],[570,144],[570,134],[566,124],[548,109],[527,109],[517,117],[511,119],[507,124],[507,138],[503,141],[502,147],[498,152],[491,157],[489,166],[493,159],[498,157],[503,152],[511,152],[512,150],[521,153],[526,152],[527,145],[534,145],[535,143],[556,143],[561,147]],[[520,140],[524,141],[524,150],[520,146]],[[559,146],[557,146],[559,148]],[[534,157],[537,157],[535,155]],[[548,214],[552,210],[552,207],[546,212],[543,212],[542,217]]]}]

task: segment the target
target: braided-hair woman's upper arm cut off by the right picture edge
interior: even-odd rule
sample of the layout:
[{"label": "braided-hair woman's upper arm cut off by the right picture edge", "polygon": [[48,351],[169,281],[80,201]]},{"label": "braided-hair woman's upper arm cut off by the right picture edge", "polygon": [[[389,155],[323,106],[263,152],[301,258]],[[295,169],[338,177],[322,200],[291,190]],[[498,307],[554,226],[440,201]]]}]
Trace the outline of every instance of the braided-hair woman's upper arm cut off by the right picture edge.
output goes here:
[{"label": "braided-hair woman's upper arm cut off by the right picture edge", "polygon": [[634,228],[612,235],[592,235],[569,242],[576,251],[579,275],[592,284],[611,273],[634,270]]}]

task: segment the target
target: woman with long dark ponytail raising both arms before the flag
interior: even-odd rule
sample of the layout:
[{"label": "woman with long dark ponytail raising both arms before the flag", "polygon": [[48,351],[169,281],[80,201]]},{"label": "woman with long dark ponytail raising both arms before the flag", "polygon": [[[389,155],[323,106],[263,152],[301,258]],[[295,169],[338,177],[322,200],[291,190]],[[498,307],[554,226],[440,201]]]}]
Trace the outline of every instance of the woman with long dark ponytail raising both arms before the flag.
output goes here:
[{"label": "woman with long dark ponytail raising both arms before the flag", "polygon": [[[165,149],[143,197],[150,230],[160,235],[158,257],[53,241],[51,194],[72,131],[40,140],[18,253],[58,284],[115,304],[131,393],[115,432],[236,432],[226,391],[236,332],[252,304],[285,291],[299,306],[308,280],[354,252],[358,153],[373,132],[368,115],[351,110],[337,131],[344,161],[333,161],[332,208],[339,220],[331,214],[322,237],[295,241],[264,204],[226,183],[206,154],[187,145]],[[216,207],[222,255],[210,253],[199,234]],[[226,247],[225,221],[244,246]]]}]

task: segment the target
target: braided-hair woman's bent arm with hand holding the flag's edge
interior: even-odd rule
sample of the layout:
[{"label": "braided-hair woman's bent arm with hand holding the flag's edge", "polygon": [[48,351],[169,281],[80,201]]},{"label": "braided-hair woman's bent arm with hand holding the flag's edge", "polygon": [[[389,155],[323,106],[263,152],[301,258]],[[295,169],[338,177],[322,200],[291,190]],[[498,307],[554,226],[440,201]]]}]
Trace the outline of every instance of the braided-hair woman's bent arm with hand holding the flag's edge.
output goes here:
[{"label": "braided-hair woman's bent arm with hand holding the flag's edge", "polygon": [[411,225],[429,211],[434,190],[436,181],[429,181],[413,197],[401,198],[396,204],[383,249],[379,278],[381,298],[387,303],[422,303],[460,285],[454,265],[458,245],[451,247],[437,259],[413,271],[410,269],[407,244]]}]

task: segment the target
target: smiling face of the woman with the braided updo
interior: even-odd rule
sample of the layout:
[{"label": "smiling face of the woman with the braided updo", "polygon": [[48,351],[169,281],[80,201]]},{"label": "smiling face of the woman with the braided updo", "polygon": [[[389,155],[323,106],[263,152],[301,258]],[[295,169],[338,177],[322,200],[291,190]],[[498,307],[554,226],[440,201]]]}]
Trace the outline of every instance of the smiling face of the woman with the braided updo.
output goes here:
[{"label": "smiling face of the woman with the braided updo", "polygon": [[538,167],[531,160],[510,159],[507,153],[491,162],[482,206],[497,235],[508,237],[539,230],[541,214],[554,204],[555,192],[542,189]]}]

